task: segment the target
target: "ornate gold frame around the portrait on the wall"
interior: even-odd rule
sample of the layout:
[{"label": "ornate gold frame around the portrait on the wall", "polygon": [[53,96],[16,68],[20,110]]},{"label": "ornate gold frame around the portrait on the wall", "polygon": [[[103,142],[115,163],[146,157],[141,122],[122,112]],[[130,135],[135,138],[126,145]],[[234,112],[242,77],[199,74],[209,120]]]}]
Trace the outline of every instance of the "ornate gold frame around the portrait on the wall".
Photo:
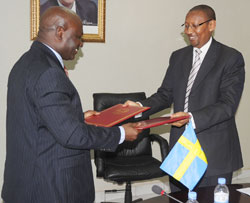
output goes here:
[{"label": "ornate gold frame around the portrait on the wall", "polygon": [[[98,34],[83,34],[85,42],[105,42],[106,0],[98,0]],[[40,21],[40,0],[30,0],[30,38],[35,40]]]}]

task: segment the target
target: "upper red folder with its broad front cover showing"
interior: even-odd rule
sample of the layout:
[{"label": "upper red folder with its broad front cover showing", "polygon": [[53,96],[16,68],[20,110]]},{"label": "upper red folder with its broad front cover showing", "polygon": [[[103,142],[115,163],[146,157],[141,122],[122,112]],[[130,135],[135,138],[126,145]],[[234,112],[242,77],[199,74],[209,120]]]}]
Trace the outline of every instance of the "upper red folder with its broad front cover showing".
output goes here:
[{"label": "upper red folder with its broad front cover showing", "polygon": [[99,115],[86,118],[85,122],[90,125],[112,127],[148,109],[150,109],[150,107],[123,107],[123,104],[117,104],[101,111]]}]

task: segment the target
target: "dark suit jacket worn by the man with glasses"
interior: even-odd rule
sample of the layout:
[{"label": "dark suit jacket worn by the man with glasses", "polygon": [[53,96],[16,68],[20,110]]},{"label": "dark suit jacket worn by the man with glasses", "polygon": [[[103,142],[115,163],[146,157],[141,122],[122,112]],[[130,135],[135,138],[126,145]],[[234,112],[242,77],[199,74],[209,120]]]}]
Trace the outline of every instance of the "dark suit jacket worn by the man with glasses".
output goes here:
[{"label": "dark suit jacket worn by the man with glasses", "polygon": [[[151,107],[145,116],[171,104],[174,112],[184,111],[192,59],[192,46],[172,54],[161,87],[156,94],[141,102]],[[206,176],[229,173],[243,166],[235,113],[244,79],[241,53],[213,39],[189,96],[189,111],[193,114],[195,131],[208,160]],[[170,147],[177,142],[184,128],[171,128]]]}]

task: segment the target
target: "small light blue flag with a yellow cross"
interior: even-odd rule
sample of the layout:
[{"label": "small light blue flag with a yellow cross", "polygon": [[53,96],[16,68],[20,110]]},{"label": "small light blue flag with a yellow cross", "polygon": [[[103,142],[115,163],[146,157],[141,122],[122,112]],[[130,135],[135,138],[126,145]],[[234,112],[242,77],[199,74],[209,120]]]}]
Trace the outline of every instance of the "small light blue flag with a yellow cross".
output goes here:
[{"label": "small light blue flag with a yellow cross", "polygon": [[196,137],[192,123],[174,145],[160,168],[193,190],[207,169],[207,158]]}]

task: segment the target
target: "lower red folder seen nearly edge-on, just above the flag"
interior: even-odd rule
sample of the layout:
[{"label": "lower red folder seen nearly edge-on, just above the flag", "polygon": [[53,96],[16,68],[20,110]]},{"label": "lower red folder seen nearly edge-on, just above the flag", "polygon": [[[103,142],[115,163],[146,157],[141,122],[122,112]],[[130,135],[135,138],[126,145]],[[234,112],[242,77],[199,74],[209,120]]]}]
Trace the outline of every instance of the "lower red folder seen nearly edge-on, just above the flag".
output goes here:
[{"label": "lower red folder seen nearly edge-on, just above the flag", "polygon": [[176,121],[180,121],[189,117],[190,116],[180,116],[177,118],[170,118],[170,116],[165,116],[165,117],[158,117],[158,118],[153,118],[149,120],[144,120],[144,121],[140,121],[141,125],[138,126],[137,129],[144,130],[144,129],[156,127],[159,125],[174,123]]}]

